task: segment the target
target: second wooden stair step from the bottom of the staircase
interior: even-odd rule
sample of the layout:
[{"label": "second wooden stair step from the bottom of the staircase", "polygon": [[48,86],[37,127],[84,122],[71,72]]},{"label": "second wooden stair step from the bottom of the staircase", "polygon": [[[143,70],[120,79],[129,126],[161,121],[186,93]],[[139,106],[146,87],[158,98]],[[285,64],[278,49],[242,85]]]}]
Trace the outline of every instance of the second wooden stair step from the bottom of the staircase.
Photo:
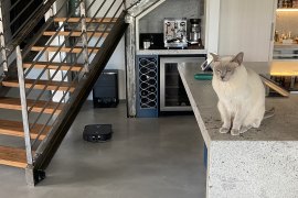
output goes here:
[{"label": "second wooden stair step from the bottom of the staircase", "polygon": [[[42,124],[35,124],[34,128],[30,130],[31,139],[36,139],[42,128]],[[50,130],[51,127],[46,125],[43,130],[43,133],[39,136],[39,140],[43,140]],[[23,122],[0,120],[0,134],[11,136],[24,136]]]}]

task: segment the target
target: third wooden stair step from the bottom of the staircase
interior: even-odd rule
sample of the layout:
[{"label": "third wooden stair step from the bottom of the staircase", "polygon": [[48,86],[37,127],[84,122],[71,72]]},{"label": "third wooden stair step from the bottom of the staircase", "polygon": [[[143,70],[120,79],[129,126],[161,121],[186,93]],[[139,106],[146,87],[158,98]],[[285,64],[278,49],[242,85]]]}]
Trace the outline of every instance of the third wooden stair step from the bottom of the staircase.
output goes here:
[{"label": "third wooden stair step from the bottom of the staircase", "polygon": [[[34,105],[34,100],[26,100],[28,108],[32,108],[32,112],[41,112],[46,101],[36,101]],[[55,108],[57,107],[57,102],[49,102],[44,109],[44,113],[54,113]],[[0,97],[0,108],[1,109],[10,109],[10,110],[22,110],[21,101],[19,98],[8,98],[8,97]],[[55,114],[58,114],[63,109],[63,103],[58,106],[55,111]]]}]

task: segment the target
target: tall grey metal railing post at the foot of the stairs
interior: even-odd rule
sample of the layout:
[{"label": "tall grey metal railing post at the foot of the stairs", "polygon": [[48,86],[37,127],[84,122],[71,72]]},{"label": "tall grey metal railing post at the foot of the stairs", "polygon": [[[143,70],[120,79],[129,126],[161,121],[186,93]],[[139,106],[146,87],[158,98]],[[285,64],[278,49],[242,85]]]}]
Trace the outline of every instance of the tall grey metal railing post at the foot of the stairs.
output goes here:
[{"label": "tall grey metal railing post at the foot of the stairs", "polygon": [[33,157],[31,150],[31,139],[30,139],[30,127],[28,118],[28,106],[25,98],[25,84],[24,84],[24,72],[23,72],[23,62],[20,46],[15,47],[17,54],[17,67],[18,67],[18,77],[19,77],[19,88],[20,88],[20,99],[22,106],[22,119],[23,119],[23,130],[24,130],[24,141],[25,141],[25,153],[26,153],[26,183],[29,186],[34,186],[34,175],[33,175]]}]

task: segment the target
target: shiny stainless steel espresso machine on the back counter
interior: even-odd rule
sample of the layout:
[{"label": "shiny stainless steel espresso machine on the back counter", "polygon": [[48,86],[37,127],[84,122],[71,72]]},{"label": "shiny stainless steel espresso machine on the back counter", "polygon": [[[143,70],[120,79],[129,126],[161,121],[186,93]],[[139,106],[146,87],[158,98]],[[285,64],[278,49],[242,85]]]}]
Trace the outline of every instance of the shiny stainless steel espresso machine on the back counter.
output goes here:
[{"label": "shiny stainless steel espresso machine on the back counter", "polygon": [[164,47],[188,47],[187,18],[166,18],[163,25]]}]

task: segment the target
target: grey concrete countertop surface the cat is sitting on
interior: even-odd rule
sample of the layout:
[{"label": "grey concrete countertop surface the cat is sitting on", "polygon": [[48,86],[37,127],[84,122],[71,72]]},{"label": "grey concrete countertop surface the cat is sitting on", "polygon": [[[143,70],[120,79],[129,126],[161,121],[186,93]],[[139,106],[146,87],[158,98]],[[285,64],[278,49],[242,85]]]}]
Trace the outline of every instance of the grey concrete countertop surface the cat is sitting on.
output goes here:
[{"label": "grey concrete countertop surface the cat is sitting on", "polygon": [[[244,63],[257,73],[266,74],[268,63]],[[289,98],[266,98],[266,109],[275,108],[275,117],[264,120],[259,129],[251,129],[241,136],[221,134],[222,125],[217,111],[217,96],[211,80],[196,80],[194,74],[200,73],[200,65],[182,63],[179,73],[189,95],[193,111],[201,129],[203,139],[209,147],[211,141],[298,141],[298,96]]]}]

